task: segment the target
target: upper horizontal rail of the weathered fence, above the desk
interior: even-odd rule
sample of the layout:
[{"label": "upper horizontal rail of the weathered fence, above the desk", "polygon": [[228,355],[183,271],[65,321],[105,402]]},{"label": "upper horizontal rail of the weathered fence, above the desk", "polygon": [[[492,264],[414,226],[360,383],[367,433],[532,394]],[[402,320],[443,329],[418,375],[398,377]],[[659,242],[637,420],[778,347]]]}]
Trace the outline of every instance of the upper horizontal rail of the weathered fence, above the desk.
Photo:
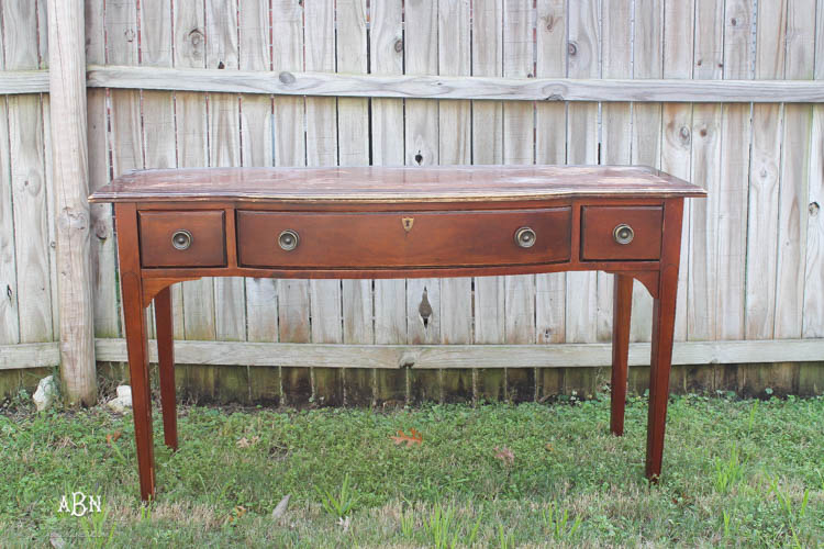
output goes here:
[{"label": "upper horizontal rail of the weathered fence, above the desk", "polygon": [[[497,101],[824,102],[824,86],[815,80],[485,78],[89,66],[87,86],[272,96]],[[0,74],[0,94],[47,91],[48,71]]]}]

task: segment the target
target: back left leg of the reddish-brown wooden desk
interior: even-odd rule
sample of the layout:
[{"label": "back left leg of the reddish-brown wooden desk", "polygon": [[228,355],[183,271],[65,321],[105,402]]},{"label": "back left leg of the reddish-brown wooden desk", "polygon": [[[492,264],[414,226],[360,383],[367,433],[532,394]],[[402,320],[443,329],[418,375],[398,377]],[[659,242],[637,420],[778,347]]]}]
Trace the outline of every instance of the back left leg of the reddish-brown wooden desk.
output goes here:
[{"label": "back left leg of the reddish-brown wooden desk", "polygon": [[175,334],[171,317],[171,287],[155,295],[157,362],[160,371],[160,406],[166,446],[177,450],[177,408],[175,403]]}]

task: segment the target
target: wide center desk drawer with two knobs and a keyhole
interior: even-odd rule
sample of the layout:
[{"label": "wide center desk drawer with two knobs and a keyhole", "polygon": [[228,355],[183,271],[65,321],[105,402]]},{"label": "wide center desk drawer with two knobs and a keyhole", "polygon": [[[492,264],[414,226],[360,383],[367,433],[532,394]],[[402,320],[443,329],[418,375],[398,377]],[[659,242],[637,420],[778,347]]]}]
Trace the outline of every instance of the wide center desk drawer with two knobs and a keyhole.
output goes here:
[{"label": "wide center desk drawer with two knobs and a keyhole", "polygon": [[392,213],[238,211],[238,265],[367,269],[557,262],[569,259],[570,225],[569,206]]}]

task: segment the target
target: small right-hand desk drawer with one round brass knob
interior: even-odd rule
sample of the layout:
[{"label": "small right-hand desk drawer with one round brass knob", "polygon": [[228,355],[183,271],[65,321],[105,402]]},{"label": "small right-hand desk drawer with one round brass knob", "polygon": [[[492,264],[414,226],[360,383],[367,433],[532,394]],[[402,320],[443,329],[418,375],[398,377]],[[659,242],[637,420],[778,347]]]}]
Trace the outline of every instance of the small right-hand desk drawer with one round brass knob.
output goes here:
[{"label": "small right-hand desk drawer with one round brass knob", "polygon": [[662,223],[660,206],[583,206],[581,259],[660,259]]}]

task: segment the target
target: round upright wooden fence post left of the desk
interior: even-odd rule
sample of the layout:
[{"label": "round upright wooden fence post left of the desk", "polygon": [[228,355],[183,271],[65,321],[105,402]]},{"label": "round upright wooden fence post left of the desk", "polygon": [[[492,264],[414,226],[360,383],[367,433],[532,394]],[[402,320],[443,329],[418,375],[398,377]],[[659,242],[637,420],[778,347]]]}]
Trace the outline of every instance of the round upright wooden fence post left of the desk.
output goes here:
[{"label": "round upright wooden fence post left of the desk", "polygon": [[82,0],[48,2],[60,380],[69,405],[97,400]]}]

